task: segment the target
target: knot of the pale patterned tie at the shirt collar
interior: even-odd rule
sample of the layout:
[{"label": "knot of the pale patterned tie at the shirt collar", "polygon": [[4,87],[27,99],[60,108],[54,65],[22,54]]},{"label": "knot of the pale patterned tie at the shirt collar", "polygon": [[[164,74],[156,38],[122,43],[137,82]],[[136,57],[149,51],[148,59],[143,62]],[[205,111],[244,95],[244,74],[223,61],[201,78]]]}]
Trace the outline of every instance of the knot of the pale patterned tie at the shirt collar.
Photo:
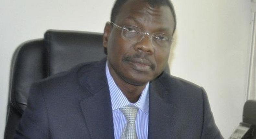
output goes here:
[{"label": "knot of the pale patterned tie at the shirt collar", "polygon": [[130,123],[135,123],[135,119],[137,116],[138,108],[134,105],[126,105],[120,108],[120,111],[125,116],[126,120]]}]

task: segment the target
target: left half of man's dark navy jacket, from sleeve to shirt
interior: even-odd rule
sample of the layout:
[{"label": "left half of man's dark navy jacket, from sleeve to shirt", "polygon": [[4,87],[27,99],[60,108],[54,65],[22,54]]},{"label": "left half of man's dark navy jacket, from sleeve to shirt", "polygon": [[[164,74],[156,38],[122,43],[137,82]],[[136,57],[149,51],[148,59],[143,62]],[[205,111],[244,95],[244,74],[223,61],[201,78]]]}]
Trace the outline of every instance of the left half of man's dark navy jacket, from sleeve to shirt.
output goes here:
[{"label": "left half of man's dark navy jacket, from sleeve to shirt", "polygon": [[113,138],[105,59],[31,86],[15,138]]}]

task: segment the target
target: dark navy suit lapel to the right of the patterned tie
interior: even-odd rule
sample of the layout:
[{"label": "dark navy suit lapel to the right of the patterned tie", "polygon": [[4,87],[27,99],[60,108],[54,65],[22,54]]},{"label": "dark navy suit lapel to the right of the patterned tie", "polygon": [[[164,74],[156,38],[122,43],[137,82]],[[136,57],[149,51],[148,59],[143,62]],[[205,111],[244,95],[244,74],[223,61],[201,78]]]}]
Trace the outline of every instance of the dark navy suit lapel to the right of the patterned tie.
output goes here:
[{"label": "dark navy suit lapel to the right of the patterned tie", "polygon": [[168,102],[170,92],[165,90],[163,84],[154,80],[149,89],[149,139],[167,139],[172,136],[174,127],[175,107]]}]

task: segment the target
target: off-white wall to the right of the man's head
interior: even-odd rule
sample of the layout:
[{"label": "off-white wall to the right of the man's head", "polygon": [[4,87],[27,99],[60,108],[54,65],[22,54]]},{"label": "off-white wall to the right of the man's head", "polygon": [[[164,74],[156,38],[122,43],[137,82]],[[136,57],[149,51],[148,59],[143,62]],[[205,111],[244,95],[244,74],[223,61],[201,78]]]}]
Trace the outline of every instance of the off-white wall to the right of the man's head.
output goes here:
[{"label": "off-white wall to the right of the man's head", "polygon": [[228,138],[242,119],[247,89],[249,0],[173,0],[178,28],[173,75],[207,91],[216,124]]}]

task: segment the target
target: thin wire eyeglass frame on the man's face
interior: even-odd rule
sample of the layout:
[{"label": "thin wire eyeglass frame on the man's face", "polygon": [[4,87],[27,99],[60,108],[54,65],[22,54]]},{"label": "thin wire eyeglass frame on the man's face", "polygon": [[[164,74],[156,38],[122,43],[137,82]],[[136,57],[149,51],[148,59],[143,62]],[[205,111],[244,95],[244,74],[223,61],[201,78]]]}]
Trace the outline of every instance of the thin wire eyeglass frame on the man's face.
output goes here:
[{"label": "thin wire eyeglass frame on the man's face", "polygon": [[[124,30],[124,27],[125,27],[125,26],[133,26],[133,27],[136,27],[136,26],[134,26],[134,25],[124,25],[123,27],[120,27],[120,26],[118,26],[117,24],[115,24],[114,22],[109,22],[109,23],[115,25],[116,27],[118,27],[118,28],[120,28],[120,29],[122,29],[122,37],[124,37],[124,38],[127,39],[127,40],[133,41],[133,40],[131,40],[131,39],[129,39],[129,38],[123,36],[123,30]],[[152,45],[153,45],[152,36],[153,36],[154,34],[156,34],[156,33],[165,34],[165,33],[161,33],[161,32],[155,32],[155,33],[150,34],[150,33],[148,33],[148,32],[145,32],[145,31],[144,31],[142,28],[140,28],[140,27],[136,27],[136,28],[141,29],[142,31],[140,32],[140,34],[143,34],[143,36],[141,37],[141,39],[140,39],[139,41],[134,41],[134,42],[136,42],[136,43],[142,41],[143,38],[145,37],[145,35],[147,35],[147,36],[149,36],[149,38],[150,38],[150,40],[151,40],[151,43],[152,43]],[[160,41],[161,41],[161,40],[160,40]],[[174,42],[174,39],[173,39],[173,37],[170,37],[167,41],[170,42],[170,45],[169,45],[169,47],[170,47],[171,44]],[[153,46],[154,46],[154,45],[153,45]]]}]

